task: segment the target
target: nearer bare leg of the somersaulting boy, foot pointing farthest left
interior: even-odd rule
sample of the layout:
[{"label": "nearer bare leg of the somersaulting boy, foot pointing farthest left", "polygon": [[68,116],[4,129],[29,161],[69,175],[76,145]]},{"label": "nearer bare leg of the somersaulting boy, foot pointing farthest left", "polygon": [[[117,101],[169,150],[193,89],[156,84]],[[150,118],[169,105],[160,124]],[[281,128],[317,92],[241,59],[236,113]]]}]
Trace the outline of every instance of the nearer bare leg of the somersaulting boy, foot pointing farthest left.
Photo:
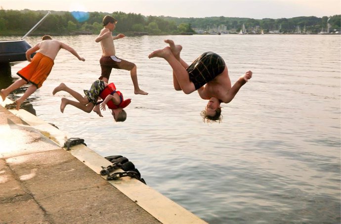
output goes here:
[{"label": "nearer bare leg of the somersaulting boy, foot pointing farthest left", "polygon": [[177,60],[174,54],[171,52],[171,47],[165,47],[161,50],[156,50],[149,54],[149,58],[160,57],[164,58],[173,69],[173,74],[175,75],[182,91],[185,94],[190,94],[195,91],[194,83],[189,79],[188,72],[182,66],[181,62]]}]

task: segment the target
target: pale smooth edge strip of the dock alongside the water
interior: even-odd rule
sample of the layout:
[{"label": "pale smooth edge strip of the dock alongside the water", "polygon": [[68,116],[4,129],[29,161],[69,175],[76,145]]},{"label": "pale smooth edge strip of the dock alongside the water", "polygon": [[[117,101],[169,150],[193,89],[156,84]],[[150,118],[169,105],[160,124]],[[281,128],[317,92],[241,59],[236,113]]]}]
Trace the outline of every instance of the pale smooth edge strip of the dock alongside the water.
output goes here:
[{"label": "pale smooth edge strip of the dock alongside the water", "polygon": [[[8,98],[0,104],[4,108],[6,104],[13,103]],[[26,122],[30,127],[39,131],[43,136],[50,139],[58,148],[63,148],[68,138],[82,138],[82,136],[66,136],[61,130],[43,121],[37,116],[20,109],[7,110]],[[86,143],[86,140],[85,140]],[[64,148],[65,149],[65,148]],[[85,145],[77,145],[67,150],[71,155],[80,160],[83,164],[100,175],[101,166],[111,165],[111,162],[97,154],[95,151],[87,148]],[[124,172],[123,170],[115,170],[115,172]],[[106,176],[101,176],[106,180]],[[146,180],[148,182],[148,180]],[[127,195],[143,210],[156,218],[163,224],[207,224],[199,217],[189,212],[185,208],[173,202],[171,199],[162,195],[153,188],[144,185],[140,181],[130,177],[120,178],[115,181],[108,181],[112,186],[116,187],[123,194]]]}]

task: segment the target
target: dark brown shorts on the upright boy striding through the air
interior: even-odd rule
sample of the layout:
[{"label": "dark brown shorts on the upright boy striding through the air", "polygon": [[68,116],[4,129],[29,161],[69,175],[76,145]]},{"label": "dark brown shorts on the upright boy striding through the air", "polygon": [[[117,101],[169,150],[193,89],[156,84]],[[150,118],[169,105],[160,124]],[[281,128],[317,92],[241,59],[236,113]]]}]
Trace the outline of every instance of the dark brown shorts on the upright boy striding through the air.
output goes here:
[{"label": "dark brown shorts on the upright boy striding through the air", "polygon": [[99,60],[99,64],[101,65],[102,73],[98,79],[102,78],[109,79],[111,70],[113,68],[130,71],[135,67],[134,63],[117,58],[116,56],[101,57],[101,59]]}]

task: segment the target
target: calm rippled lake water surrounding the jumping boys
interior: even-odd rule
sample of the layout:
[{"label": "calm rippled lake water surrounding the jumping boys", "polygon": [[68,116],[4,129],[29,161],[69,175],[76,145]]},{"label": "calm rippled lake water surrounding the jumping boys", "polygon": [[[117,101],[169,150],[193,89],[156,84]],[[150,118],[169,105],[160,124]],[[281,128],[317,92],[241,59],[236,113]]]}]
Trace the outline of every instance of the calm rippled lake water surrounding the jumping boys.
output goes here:
[{"label": "calm rippled lake water surrounding the jumping boys", "polygon": [[[103,156],[122,154],[139,169],[148,186],[210,224],[340,223],[341,36],[196,35],[125,37],[115,41],[117,56],[137,65],[148,96],[134,95],[128,71],[113,70],[125,98],[132,98],[125,122],[67,106],[60,82],[79,92],[100,75],[96,36],[56,37],[86,61],[61,50],[55,66],[29,101],[37,116],[68,137],[84,138]],[[20,37],[1,37],[18,39]],[[205,51],[221,55],[232,83],[246,71],[253,78],[229,104],[223,122],[205,124],[207,101],[197,92],[172,88],[171,68],[148,59],[171,38],[190,63]],[[31,45],[40,37],[27,37]],[[23,62],[12,67],[12,78]],[[3,75],[1,75],[3,76]],[[21,96],[26,87],[9,95]]]}]

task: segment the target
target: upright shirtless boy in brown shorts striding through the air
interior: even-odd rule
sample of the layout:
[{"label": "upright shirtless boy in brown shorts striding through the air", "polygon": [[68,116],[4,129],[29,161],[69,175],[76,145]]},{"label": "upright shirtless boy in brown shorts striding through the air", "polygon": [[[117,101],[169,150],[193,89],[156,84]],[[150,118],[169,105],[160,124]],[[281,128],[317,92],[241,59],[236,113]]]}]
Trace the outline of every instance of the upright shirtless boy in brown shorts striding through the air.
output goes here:
[{"label": "upright shirtless boy in brown shorts striding through the air", "polygon": [[138,86],[137,82],[137,69],[134,63],[128,62],[126,60],[120,59],[116,57],[114,40],[126,37],[124,34],[119,34],[115,37],[112,36],[112,32],[116,28],[117,20],[112,16],[105,16],[103,18],[103,26],[104,28],[101,30],[98,37],[95,39],[96,42],[101,42],[102,46],[102,57],[99,60],[101,65],[102,74],[99,79],[108,82],[111,70],[114,69],[123,69],[130,71],[130,76],[132,80],[132,84],[134,85],[134,93],[147,95],[148,93],[141,90]]}]

